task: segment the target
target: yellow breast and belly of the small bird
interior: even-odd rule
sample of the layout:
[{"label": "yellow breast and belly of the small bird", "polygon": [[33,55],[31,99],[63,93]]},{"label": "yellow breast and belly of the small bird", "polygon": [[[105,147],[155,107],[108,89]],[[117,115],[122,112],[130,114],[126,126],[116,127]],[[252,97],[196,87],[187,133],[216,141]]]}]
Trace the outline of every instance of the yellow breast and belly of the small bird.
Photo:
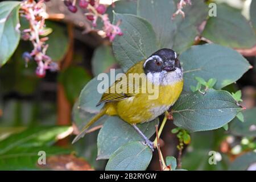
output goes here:
[{"label": "yellow breast and belly of the small bird", "polygon": [[119,115],[128,123],[152,121],[174,105],[183,88],[183,80],[159,85],[158,97],[149,99],[148,93],[138,93],[118,102],[106,103],[106,114]]}]

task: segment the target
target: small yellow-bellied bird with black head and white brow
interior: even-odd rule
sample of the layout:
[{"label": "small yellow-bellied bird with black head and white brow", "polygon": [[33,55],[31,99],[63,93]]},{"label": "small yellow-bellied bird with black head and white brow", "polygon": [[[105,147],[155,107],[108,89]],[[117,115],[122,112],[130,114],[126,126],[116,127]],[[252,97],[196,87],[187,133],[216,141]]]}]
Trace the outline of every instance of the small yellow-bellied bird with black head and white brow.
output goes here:
[{"label": "small yellow-bellied bird with black head and white brow", "polygon": [[[141,78],[141,81],[134,83],[134,78],[129,77],[130,75],[135,79]],[[148,85],[157,92],[155,97]],[[82,128],[72,143],[84,137],[88,127],[103,115],[117,115],[133,126],[144,139],[143,144],[154,151],[154,143],[139,130],[137,124],[150,122],[165,113],[175,104],[182,89],[183,69],[177,53],[168,48],[159,49],[147,59],[138,61],[123,77],[115,80],[97,104],[104,104],[100,112]]]}]

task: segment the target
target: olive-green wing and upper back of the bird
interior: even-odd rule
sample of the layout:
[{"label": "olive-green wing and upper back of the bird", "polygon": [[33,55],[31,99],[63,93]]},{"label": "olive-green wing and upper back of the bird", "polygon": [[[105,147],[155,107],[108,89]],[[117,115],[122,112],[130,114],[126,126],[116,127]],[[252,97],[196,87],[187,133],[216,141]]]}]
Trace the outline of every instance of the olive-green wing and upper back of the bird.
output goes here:
[{"label": "olive-green wing and upper back of the bird", "polygon": [[[143,63],[144,63],[144,60],[138,62],[133,67],[131,67],[125,73],[125,75],[128,77],[129,73],[143,73]],[[116,86],[118,84],[122,85],[122,86],[121,87],[120,86]],[[102,103],[116,102],[116,101],[120,101],[120,100],[123,100],[123,99],[126,99],[126,98],[134,96],[134,93],[135,93],[134,92],[134,86],[133,86],[133,93],[129,93],[128,92],[128,90],[131,89],[131,86],[133,86],[133,85],[130,85],[129,81],[120,78],[119,80],[115,81],[114,84],[112,84],[109,87],[107,92],[105,92],[102,95],[101,100],[98,102],[97,106],[102,104]],[[140,86],[137,89],[141,89]],[[123,90],[126,90],[126,92],[124,93]]]}]

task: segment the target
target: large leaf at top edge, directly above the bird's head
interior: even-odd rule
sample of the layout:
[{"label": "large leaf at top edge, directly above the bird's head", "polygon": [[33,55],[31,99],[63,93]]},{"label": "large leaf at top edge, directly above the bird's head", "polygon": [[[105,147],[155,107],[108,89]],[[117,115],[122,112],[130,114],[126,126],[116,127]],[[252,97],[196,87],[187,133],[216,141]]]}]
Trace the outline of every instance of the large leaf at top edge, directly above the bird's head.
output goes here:
[{"label": "large leaf at top edge, directly above the bird's head", "polygon": [[177,15],[172,19],[176,3],[173,0],[139,0],[137,14],[152,24],[158,48],[174,48],[176,52],[182,52],[193,45],[199,34],[197,27],[207,17],[207,6],[203,1],[193,1],[183,9],[185,18]]}]

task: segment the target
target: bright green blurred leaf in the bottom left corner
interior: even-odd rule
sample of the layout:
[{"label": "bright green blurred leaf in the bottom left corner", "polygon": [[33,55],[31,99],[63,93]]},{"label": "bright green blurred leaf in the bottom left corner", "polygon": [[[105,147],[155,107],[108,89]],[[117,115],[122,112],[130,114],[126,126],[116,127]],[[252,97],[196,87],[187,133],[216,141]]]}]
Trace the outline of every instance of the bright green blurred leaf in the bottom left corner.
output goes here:
[{"label": "bright green blurred leaf in the bottom left corner", "polygon": [[47,157],[69,154],[71,150],[52,146],[57,135],[68,130],[67,126],[33,127],[0,140],[0,169],[39,169],[39,151]]}]

